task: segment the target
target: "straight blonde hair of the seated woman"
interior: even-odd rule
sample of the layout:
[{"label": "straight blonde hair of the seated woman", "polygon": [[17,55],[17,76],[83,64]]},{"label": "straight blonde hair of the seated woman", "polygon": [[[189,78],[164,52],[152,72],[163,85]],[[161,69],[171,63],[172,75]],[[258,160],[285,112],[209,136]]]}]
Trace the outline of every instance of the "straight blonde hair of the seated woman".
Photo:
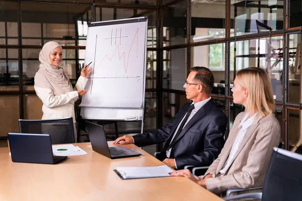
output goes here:
[{"label": "straight blonde hair of the seated woman", "polygon": [[237,72],[236,79],[249,91],[246,112],[258,112],[261,117],[265,117],[275,111],[272,84],[265,70],[255,67],[241,69]]}]

